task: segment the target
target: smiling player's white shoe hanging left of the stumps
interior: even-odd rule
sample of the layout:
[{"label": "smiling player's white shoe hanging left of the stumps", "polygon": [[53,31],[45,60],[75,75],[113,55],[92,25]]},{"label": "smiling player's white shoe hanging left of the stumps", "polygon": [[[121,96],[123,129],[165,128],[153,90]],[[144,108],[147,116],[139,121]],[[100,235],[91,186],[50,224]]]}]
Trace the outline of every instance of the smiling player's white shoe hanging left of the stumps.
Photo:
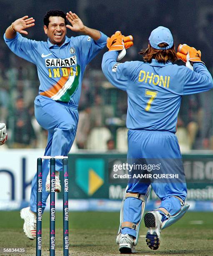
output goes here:
[{"label": "smiling player's white shoe hanging left of the stumps", "polygon": [[21,209],[21,218],[25,221],[23,230],[25,235],[31,240],[36,238],[36,214],[30,211],[30,207]]}]

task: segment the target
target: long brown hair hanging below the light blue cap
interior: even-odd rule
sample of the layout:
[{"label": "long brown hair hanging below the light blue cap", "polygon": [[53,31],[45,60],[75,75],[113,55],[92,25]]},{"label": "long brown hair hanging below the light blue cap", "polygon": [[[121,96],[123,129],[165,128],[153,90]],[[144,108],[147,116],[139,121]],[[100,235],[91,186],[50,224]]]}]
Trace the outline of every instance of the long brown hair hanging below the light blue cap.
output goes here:
[{"label": "long brown hair hanging below the light blue cap", "polygon": [[[166,43],[161,43],[158,44],[159,47],[166,47],[168,44]],[[145,50],[141,50],[139,52],[140,55],[143,55],[143,60],[145,62],[151,63],[152,59],[156,59],[159,62],[165,62],[171,61],[174,62],[178,60],[178,56],[175,51],[175,44],[170,49],[167,50],[158,50],[154,49],[150,44],[148,45],[148,48]]]}]

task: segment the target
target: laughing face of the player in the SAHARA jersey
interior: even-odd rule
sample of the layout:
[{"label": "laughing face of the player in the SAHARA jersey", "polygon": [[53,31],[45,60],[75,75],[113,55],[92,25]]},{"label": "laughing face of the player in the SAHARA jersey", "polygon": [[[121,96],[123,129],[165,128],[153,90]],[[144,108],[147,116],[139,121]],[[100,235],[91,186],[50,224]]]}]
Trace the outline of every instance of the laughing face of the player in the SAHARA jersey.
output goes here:
[{"label": "laughing face of the player in the SAHARA jersey", "polygon": [[65,41],[65,35],[67,33],[65,20],[60,16],[50,16],[49,20],[48,27],[44,26],[45,34],[52,44],[61,46]]}]

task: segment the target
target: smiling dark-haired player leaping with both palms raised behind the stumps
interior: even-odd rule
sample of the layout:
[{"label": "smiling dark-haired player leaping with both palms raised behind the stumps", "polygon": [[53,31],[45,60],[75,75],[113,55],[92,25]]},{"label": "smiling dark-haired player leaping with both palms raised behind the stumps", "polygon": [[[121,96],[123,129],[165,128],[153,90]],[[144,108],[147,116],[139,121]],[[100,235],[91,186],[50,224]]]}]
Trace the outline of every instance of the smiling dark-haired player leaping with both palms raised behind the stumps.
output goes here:
[{"label": "smiling dark-haired player leaping with both palms raised behind the stumps", "polygon": [[[71,25],[67,25],[67,20]],[[21,35],[27,35],[26,29],[34,25],[34,18],[28,16],[15,20],[7,28],[4,39],[11,51],[37,67],[40,86],[35,98],[35,118],[48,130],[45,156],[67,156],[78,124],[83,73],[86,65],[105,47],[107,36],[86,27],[71,11],[66,15],[60,10],[47,12],[44,17],[47,41],[29,40]],[[68,38],[67,28],[85,36]],[[50,192],[49,167],[49,161],[43,160],[43,210]],[[55,168],[55,191],[60,192],[61,160],[56,159]],[[23,229],[30,239],[35,239],[36,235],[35,212],[36,175],[32,182],[30,208],[21,210],[21,218],[25,220]]]}]

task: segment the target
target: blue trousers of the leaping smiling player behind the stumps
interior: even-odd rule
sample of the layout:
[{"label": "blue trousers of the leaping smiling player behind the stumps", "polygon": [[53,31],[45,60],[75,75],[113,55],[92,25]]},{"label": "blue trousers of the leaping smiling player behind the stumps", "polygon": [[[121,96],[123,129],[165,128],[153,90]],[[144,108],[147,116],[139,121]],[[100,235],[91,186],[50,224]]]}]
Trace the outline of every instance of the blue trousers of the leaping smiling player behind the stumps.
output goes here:
[{"label": "blue trousers of the leaping smiling player behind the stumps", "polygon": [[[35,98],[35,118],[48,131],[45,156],[67,156],[73,145],[78,125],[78,109],[76,105],[65,102],[56,102],[48,97],[38,95]],[[42,164],[42,209],[46,207],[49,192],[45,190],[45,183],[50,170],[50,161],[43,160]],[[55,170],[62,171],[62,160],[56,159]],[[30,195],[30,210],[36,212],[37,175],[32,181]]]}]

